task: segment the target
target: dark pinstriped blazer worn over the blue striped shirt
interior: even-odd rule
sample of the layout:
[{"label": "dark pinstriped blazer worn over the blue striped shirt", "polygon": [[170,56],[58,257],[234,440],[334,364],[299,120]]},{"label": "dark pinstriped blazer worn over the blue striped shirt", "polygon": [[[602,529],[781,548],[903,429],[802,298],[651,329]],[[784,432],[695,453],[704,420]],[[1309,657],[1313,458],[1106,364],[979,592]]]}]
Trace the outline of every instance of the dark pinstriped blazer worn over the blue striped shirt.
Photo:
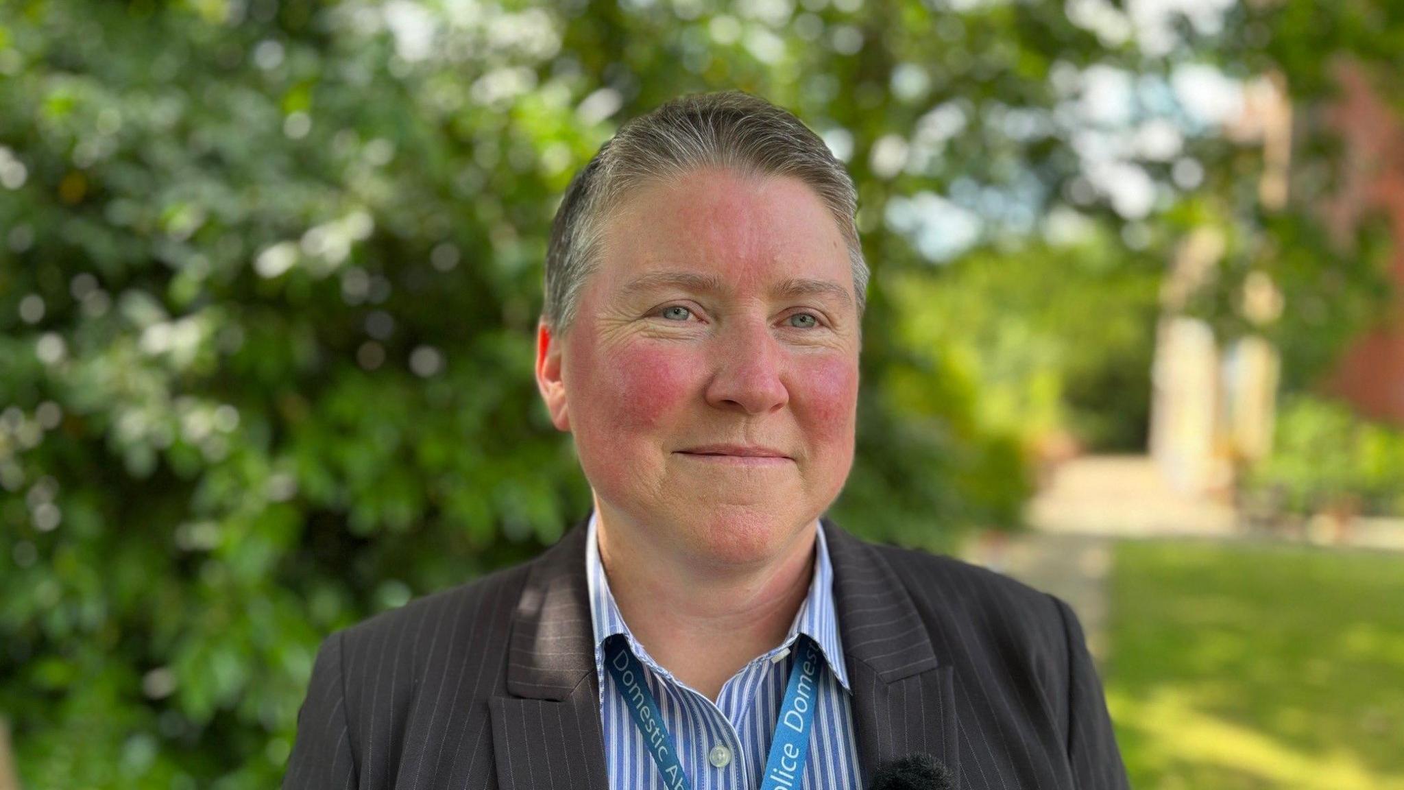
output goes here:
[{"label": "dark pinstriped blazer worn over the blue striped shirt", "polygon": [[[1066,603],[821,523],[865,783],[927,752],[963,789],[1127,787]],[[584,537],[327,637],[284,789],[608,790]]]}]

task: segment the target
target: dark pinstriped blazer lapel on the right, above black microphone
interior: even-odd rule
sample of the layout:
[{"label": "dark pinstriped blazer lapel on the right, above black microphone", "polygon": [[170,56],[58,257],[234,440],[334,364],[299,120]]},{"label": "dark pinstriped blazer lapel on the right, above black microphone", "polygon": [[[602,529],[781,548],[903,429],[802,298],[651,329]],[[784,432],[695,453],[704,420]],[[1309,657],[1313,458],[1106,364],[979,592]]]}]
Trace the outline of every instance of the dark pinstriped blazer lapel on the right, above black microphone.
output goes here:
[{"label": "dark pinstriped blazer lapel on the right, above black microphone", "polygon": [[834,565],[834,602],[854,690],[858,762],[866,787],[878,766],[928,753],[960,786],[955,685],[936,661],[911,595],[878,548],[821,519]]}]

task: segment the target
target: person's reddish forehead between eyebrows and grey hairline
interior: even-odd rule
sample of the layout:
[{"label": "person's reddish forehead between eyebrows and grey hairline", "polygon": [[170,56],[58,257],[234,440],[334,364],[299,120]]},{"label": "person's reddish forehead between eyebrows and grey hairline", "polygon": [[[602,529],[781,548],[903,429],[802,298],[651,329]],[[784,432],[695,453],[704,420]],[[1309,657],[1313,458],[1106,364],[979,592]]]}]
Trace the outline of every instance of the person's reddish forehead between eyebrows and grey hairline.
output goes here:
[{"label": "person's reddish forehead between eyebrows and grey hairline", "polygon": [[611,290],[654,271],[695,271],[731,290],[796,280],[838,283],[852,302],[848,247],[803,181],[692,171],[626,195],[604,226],[598,276]]}]

